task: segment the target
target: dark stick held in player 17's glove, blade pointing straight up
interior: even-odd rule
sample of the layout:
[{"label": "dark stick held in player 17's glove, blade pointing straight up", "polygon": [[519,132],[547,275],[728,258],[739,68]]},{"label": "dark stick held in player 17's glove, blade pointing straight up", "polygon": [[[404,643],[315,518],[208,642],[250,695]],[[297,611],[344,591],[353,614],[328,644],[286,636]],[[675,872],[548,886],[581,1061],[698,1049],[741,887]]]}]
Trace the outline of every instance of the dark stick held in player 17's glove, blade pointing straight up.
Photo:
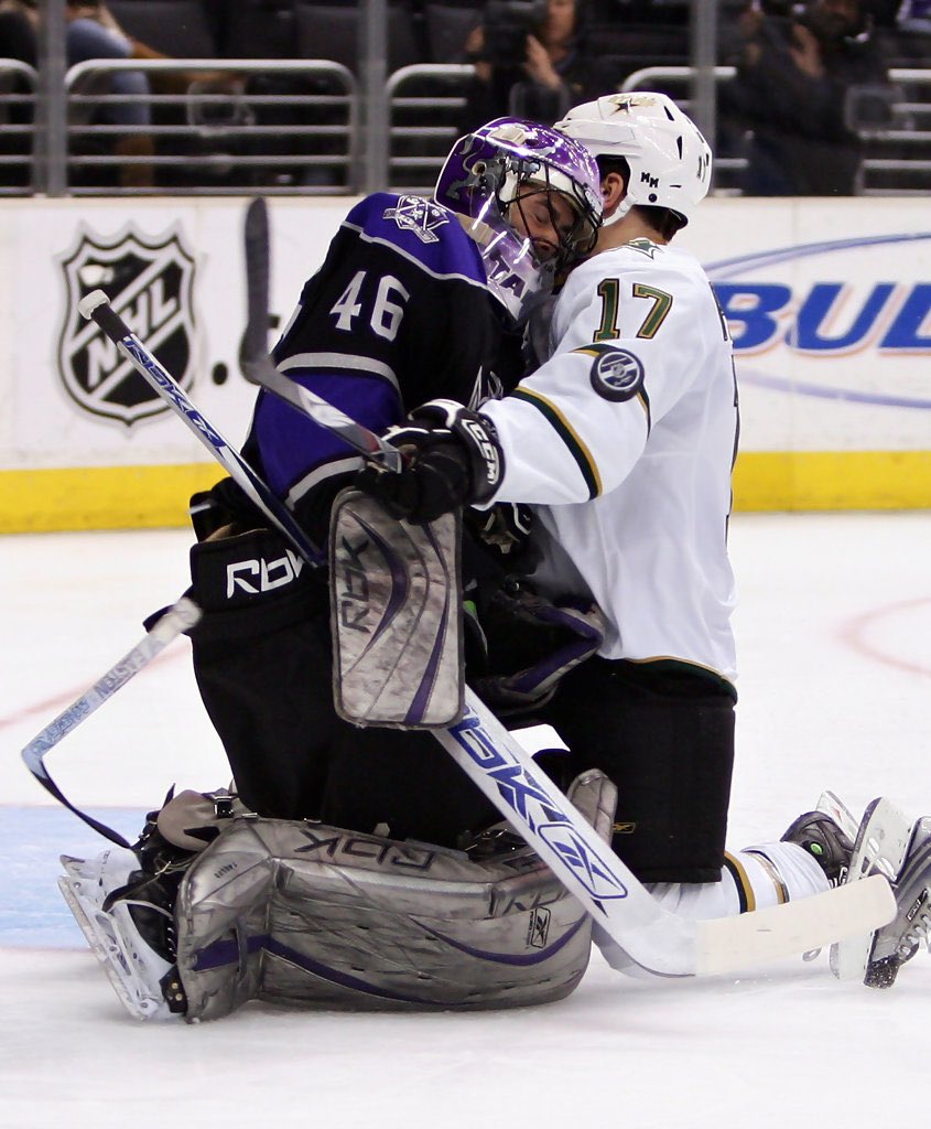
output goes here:
[{"label": "dark stick held in player 17's glove, blade pointing straight up", "polygon": [[244,250],[247,320],[239,351],[239,367],[246,379],[274,393],[301,414],[333,431],[369,462],[388,471],[399,471],[402,460],[396,447],[357,423],[328,401],[289,379],[275,368],[269,356],[269,211],[262,196],[253,200],[246,209]]}]

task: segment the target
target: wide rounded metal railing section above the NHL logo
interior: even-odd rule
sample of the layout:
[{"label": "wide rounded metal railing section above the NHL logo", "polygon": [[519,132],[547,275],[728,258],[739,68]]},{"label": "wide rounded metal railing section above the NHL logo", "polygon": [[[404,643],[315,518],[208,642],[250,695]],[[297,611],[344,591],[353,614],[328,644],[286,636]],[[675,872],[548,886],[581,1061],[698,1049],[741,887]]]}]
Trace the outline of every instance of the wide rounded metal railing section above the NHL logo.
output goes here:
[{"label": "wide rounded metal railing section above the NHL logo", "polygon": [[[116,71],[142,72],[151,93],[107,93]],[[116,193],[340,193],[357,184],[355,79],[328,60],[95,59],[70,68],[65,96],[74,194],[102,185]],[[144,106],[151,123],[128,130],[107,122],[118,104]],[[115,166],[122,181],[114,184]]]}]

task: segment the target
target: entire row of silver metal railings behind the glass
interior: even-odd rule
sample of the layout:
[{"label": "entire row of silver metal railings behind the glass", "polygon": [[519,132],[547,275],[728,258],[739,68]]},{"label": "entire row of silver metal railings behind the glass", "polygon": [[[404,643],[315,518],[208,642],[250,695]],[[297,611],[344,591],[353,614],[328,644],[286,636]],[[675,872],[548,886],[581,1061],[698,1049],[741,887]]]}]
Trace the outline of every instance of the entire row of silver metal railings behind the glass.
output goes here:
[{"label": "entire row of silver metal railings behind the glass", "polygon": [[[116,72],[146,75],[150,91],[116,95]],[[436,180],[463,128],[474,68],[405,67],[385,86],[387,146],[378,168],[366,163],[357,80],[328,60],[91,60],[65,76],[64,149],[70,194],[339,194],[375,180],[395,191],[423,191]],[[658,88],[686,111],[695,69],[648,67],[622,90]],[[718,87],[736,75],[713,68]],[[857,180],[862,195],[931,191],[931,70],[893,69],[888,120],[860,128],[864,152]],[[0,60],[0,195],[41,190],[37,72]],[[151,123],[107,121],[116,106],[144,105]],[[370,132],[370,131],[369,131]],[[133,141],[133,139],[137,139]],[[45,139],[46,145],[49,139]],[[739,194],[746,157],[741,137],[719,130],[714,192]],[[55,139],[52,139],[55,143]],[[363,151],[365,150],[365,151]],[[384,166],[384,167],[383,167]]]}]

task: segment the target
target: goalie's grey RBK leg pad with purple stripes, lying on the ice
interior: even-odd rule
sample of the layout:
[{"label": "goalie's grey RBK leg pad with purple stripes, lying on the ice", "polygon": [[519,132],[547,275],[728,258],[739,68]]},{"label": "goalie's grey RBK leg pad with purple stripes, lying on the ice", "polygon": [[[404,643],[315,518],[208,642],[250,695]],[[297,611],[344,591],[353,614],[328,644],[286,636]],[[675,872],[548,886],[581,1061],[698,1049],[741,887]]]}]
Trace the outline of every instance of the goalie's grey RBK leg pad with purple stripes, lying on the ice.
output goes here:
[{"label": "goalie's grey RBK leg pad with purple stripes, lying on the ice", "polygon": [[[611,781],[586,773],[571,795],[607,840]],[[422,1010],[568,996],[588,965],[591,919],[506,830],[475,850],[234,820],[181,887],[187,1019],[219,1018],[251,999]]]}]

